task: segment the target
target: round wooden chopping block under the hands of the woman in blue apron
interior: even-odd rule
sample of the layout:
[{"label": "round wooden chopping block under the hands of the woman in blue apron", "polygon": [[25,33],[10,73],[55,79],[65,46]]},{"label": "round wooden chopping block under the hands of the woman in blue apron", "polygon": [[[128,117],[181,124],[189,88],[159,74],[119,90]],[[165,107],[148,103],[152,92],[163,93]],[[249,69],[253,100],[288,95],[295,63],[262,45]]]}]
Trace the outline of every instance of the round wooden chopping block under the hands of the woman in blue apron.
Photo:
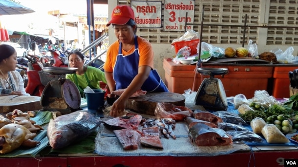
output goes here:
[{"label": "round wooden chopping block under the hands of the woman in blue apron", "polygon": [[132,97],[126,103],[126,109],[137,113],[154,115],[157,102],[171,103],[176,106],[185,106],[185,96],[179,93],[147,93],[142,96]]}]

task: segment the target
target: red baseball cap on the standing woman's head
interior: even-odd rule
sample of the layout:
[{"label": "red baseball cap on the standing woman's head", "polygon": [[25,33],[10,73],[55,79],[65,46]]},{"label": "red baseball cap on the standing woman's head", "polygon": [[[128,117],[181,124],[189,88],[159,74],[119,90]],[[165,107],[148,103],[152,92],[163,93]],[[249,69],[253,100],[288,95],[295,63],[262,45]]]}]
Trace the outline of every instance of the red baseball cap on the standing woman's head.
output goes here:
[{"label": "red baseball cap on the standing woman's head", "polygon": [[128,5],[119,5],[113,9],[112,19],[106,26],[109,26],[110,24],[124,25],[129,19],[134,20],[134,13],[131,7]]}]

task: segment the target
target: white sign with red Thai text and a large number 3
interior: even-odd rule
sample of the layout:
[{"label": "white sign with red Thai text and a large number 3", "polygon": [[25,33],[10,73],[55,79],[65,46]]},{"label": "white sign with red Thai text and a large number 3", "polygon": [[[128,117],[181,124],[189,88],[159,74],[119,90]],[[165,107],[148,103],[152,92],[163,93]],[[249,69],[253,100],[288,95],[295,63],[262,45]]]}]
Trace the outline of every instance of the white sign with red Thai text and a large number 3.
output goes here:
[{"label": "white sign with red Thai text and a large number 3", "polygon": [[[187,21],[187,23],[193,23],[193,15],[194,0],[165,0],[164,30],[184,31],[185,21]],[[192,25],[186,27],[186,31],[192,29]]]}]

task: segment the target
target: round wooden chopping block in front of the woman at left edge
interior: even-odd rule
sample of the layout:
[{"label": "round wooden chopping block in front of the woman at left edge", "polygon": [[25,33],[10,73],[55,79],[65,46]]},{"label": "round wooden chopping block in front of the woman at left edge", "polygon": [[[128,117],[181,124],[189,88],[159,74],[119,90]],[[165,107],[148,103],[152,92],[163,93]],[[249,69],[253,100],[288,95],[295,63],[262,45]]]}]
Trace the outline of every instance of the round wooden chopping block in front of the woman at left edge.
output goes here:
[{"label": "round wooden chopping block in front of the woman at left edge", "polygon": [[39,96],[0,96],[0,113],[12,112],[15,109],[23,112],[41,110],[43,106],[40,104],[40,100]]}]

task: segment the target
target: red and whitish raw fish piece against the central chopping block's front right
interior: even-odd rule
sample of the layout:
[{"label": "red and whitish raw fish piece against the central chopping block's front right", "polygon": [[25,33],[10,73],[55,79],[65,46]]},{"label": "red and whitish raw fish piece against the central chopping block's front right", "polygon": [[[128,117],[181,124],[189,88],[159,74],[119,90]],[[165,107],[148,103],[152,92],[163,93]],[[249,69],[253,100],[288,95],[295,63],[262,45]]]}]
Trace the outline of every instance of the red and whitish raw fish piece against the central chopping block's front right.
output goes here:
[{"label": "red and whitish raw fish piece against the central chopping block's front right", "polygon": [[192,110],[183,106],[175,106],[171,103],[158,102],[154,115],[158,118],[172,118],[175,121],[184,121],[186,117],[192,115]]}]

